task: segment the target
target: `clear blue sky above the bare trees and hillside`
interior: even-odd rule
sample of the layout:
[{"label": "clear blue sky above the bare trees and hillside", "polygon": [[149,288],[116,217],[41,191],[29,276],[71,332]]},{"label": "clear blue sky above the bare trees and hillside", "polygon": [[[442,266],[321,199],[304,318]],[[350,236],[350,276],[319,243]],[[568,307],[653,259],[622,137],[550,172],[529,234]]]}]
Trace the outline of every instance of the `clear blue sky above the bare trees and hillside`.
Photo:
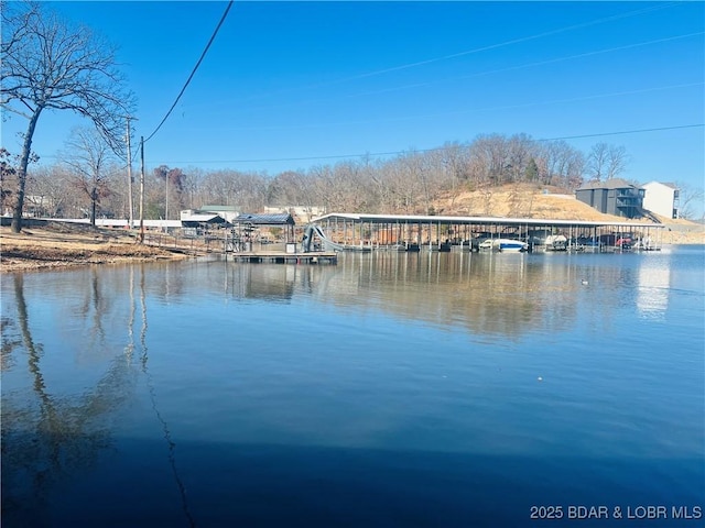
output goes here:
[{"label": "clear blue sky above the bare trees and hillside", "polygon": [[[154,132],[227,7],[51,4],[119,46],[138,139]],[[274,175],[525,133],[584,152],[623,145],[623,177],[703,187],[704,26],[703,2],[236,1],[145,163]],[[43,162],[79,123],[42,116]],[[18,151],[24,125],[3,123],[3,145]],[[671,130],[577,138],[646,129]]]}]

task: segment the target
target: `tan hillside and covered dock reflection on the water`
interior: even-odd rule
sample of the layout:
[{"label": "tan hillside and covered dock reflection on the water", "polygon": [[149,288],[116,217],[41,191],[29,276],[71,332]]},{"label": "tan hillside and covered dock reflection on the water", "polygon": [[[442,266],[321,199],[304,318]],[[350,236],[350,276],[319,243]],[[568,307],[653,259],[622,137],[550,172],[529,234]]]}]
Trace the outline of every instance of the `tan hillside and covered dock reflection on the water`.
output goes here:
[{"label": "tan hillside and covered dock reflection on the water", "polygon": [[530,255],[377,254],[346,257],[343,267],[322,301],[460,326],[477,334],[516,338],[546,324],[566,328],[579,293],[579,279],[565,261]]}]

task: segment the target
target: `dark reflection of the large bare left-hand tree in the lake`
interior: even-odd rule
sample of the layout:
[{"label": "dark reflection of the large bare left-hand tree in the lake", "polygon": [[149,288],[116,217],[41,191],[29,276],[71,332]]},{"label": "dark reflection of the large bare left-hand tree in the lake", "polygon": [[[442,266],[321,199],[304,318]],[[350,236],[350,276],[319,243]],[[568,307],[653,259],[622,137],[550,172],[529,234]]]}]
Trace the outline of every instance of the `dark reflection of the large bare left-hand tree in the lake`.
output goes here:
[{"label": "dark reflection of the large bare left-hand tree in the lake", "polygon": [[[32,336],[22,274],[13,280],[17,326],[3,321],[2,367],[26,354],[31,387],[2,394],[2,518],[7,526],[44,525],[52,488],[94,466],[100,450],[111,446],[110,416],[133,394],[139,372],[130,366],[130,344],[93,388],[77,397],[54,395],[42,373],[44,346]],[[80,317],[93,317],[100,337],[102,300],[95,276],[90,295]]]}]

